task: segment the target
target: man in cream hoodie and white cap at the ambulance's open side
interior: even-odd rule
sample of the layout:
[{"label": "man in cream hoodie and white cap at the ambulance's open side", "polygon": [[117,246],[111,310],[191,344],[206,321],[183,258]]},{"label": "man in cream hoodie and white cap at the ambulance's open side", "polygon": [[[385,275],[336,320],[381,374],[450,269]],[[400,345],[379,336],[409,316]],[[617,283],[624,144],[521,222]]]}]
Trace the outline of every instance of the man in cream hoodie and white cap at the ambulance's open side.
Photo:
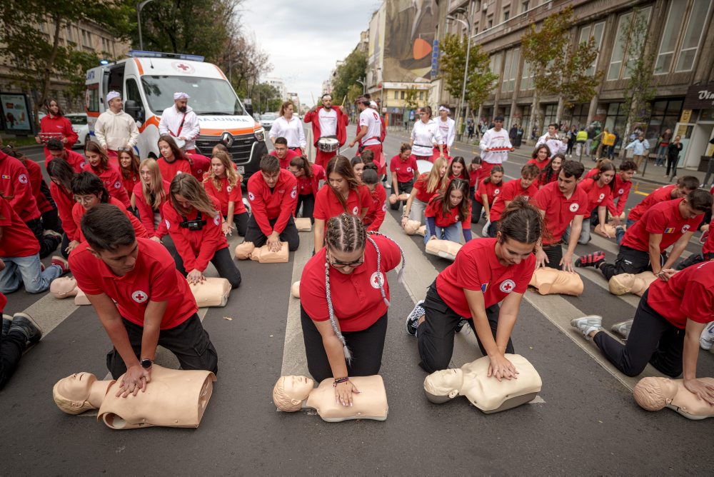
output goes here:
[{"label": "man in cream hoodie and white cap at the ambulance's open side", "polygon": [[[106,105],[109,108],[99,115],[94,124],[94,137],[110,158],[110,164],[116,167],[119,166],[119,148],[136,146],[139,128],[136,127],[136,120],[124,112],[124,103],[117,91],[106,94]],[[86,149],[86,144],[84,147]]]}]

